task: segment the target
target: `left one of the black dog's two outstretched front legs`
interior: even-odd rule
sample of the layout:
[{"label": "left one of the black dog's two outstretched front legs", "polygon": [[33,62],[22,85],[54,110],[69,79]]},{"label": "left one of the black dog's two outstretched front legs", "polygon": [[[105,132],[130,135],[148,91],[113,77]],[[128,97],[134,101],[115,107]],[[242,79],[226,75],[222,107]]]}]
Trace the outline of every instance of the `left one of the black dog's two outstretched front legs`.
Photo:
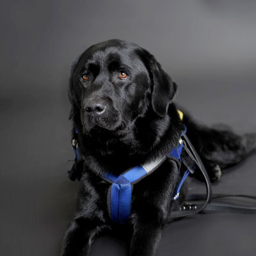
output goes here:
[{"label": "left one of the black dog's two outstretched front legs", "polygon": [[93,240],[106,225],[99,221],[74,219],[70,222],[65,234],[61,256],[88,256],[91,252]]}]

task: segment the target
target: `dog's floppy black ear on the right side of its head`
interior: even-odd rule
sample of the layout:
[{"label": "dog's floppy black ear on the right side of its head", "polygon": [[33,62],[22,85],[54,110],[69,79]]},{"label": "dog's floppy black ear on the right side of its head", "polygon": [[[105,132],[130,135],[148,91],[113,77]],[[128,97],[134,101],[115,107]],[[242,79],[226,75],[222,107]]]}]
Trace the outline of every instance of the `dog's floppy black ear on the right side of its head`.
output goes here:
[{"label": "dog's floppy black ear on the right side of its head", "polygon": [[144,65],[147,67],[152,81],[152,107],[157,115],[163,117],[168,111],[168,106],[172,102],[177,92],[177,84],[163,70],[156,58],[147,50],[137,51]]}]

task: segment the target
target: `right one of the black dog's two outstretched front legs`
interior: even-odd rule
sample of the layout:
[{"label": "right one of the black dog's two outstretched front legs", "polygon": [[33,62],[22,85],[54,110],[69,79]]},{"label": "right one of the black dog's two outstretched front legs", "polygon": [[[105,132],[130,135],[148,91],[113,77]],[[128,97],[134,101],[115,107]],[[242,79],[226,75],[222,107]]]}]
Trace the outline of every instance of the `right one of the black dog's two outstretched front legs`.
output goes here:
[{"label": "right one of the black dog's two outstretched front legs", "polygon": [[163,227],[156,221],[135,223],[131,239],[131,256],[154,256],[161,240]]}]

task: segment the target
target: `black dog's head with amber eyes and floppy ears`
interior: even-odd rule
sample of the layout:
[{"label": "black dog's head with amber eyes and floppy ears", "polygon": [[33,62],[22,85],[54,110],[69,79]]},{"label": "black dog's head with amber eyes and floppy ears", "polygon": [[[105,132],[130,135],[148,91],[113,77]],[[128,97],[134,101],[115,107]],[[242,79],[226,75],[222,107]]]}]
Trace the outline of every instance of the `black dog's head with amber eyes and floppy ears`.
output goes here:
[{"label": "black dog's head with amber eyes and floppy ears", "polygon": [[79,116],[85,134],[129,130],[148,108],[165,116],[176,91],[152,54],[136,44],[108,40],[92,45],[72,67],[71,115]]}]

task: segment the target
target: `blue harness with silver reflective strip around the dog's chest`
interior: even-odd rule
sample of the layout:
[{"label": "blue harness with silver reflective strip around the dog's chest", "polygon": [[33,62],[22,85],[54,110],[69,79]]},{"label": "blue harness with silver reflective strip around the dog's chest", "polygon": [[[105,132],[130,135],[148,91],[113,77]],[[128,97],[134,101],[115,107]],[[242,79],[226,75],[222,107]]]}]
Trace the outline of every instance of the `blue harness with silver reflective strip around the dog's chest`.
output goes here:
[{"label": "blue harness with silver reflective strip around the dog's chest", "polygon": [[[186,127],[184,133],[185,132]],[[77,163],[81,160],[81,156],[79,154],[77,143],[74,140],[72,141],[72,148],[76,156],[75,163]],[[179,163],[181,163],[180,155],[182,148],[183,141],[180,138],[178,145],[173,148],[172,152],[169,154],[170,157],[176,159]],[[154,172],[154,170],[156,170],[165,159],[166,157],[162,157],[161,159],[157,159],[156,161],[148,164],[140,164],[125,171],[119,176],[113,175],[113,173],[110,172],[105,173],[102,179],[111,184],[108,191],[108,209],[113,222],[123,224],[129,219],[131,214],[132,186]],[[182,188],[182,184],[188,177],[189,173],[190,170],[187,170],[180,182],[177,184],[172,200],[177,200],[179,198],[180,189]]]}]

